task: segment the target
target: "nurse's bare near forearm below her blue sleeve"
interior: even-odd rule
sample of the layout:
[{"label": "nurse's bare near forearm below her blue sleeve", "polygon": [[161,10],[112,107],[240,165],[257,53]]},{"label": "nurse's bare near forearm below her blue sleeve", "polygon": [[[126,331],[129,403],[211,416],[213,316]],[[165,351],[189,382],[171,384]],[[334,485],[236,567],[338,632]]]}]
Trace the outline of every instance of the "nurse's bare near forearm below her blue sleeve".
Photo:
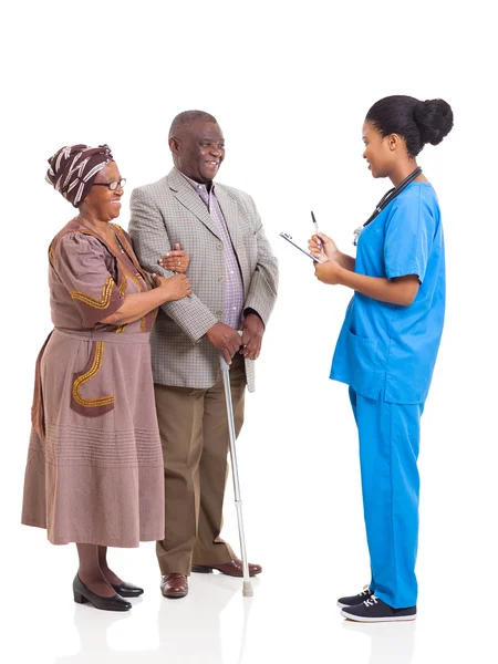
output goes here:
[{"label": "nurse's bare near forearm below her blue sleeve", "polygon": [[401,307],[409,307],[412,304],[419,286],[416,274],[385,279],[383,277],[356,274],[356,272],[351,272],[347,269],[341,270],[339,283],[352,288],[367,298],[390,304],[400,304]]}]

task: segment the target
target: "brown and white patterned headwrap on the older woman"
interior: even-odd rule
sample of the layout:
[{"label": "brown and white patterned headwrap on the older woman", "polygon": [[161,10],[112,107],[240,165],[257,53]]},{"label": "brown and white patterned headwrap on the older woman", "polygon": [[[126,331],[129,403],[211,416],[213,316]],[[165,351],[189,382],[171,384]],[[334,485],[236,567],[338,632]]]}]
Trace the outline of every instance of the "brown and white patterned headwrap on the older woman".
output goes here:
[{"label": "brown and white patterned headwrap on the older woman", "polygon": [[108,145],[66,145],[50,157],[45,179],[77,207],[85,199],[97,173],[113,160]]}]

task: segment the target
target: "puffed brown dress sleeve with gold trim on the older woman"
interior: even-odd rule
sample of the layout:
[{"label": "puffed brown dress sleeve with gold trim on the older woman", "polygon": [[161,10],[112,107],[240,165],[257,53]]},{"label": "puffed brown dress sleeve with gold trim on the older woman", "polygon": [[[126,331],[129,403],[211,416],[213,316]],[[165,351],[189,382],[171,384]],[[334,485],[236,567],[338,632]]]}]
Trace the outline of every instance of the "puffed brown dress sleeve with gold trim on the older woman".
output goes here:
[{"label": "puffed brown dress sleeve with gold trim on the older woman", "polygon": [[107,269],[107,255],[96,238],[79,232],[64,236],[55,250],[55,271],[87,328],[117,311],[124,302]]}]

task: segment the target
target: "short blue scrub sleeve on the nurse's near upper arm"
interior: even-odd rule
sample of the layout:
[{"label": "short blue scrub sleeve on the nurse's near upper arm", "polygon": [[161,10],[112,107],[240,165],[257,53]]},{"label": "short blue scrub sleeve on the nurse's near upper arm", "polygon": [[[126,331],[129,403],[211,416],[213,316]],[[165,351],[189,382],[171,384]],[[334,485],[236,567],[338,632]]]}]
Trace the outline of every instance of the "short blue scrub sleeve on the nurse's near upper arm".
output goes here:
[{"label": "short blue scrub sleeve on the nurse's near upper arm", "polygon": [[388,279],[416,274],[424,281],[433,248],[436,221],[421,196],[404,196],[394,203],[386,222],[384,263]]}]

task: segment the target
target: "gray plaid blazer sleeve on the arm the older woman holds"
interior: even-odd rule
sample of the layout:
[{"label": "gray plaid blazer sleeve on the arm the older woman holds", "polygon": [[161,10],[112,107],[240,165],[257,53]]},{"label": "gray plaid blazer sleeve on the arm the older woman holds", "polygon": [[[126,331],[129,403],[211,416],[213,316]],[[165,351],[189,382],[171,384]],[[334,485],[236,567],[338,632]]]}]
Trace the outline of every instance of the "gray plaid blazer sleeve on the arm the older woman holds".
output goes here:
[{"label": "gray plaid blazer sleeve on the arm the older woman holds", "polygon": [[[129,201],[128,232],[138,262],[147,270],[169,278],[174,272],[164,270],[157,261],[172,250],[172,242],[163,215],[152,196],[144,189],[134,189]],[[163,311],[197,343],[218,322],[209,309],[194,293],[176,302],[166,302]]]}]

